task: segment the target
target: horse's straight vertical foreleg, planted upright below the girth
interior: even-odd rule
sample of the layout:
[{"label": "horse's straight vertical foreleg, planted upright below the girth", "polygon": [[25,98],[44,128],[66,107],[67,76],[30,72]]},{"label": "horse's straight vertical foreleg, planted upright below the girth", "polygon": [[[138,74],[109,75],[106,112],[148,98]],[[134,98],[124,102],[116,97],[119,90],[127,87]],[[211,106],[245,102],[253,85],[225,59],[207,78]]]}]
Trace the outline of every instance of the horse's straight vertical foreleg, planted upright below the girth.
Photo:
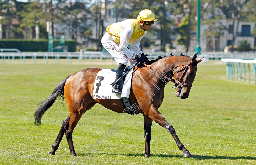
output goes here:
[{"label": "horse's straight vertical foreleg, planted upright below the girth", "polygon": [[145,157],[150,157],[150,139],[151,139],[151,126],[152,119],[148,116],[144,116],[144,128],[145,128]]}]

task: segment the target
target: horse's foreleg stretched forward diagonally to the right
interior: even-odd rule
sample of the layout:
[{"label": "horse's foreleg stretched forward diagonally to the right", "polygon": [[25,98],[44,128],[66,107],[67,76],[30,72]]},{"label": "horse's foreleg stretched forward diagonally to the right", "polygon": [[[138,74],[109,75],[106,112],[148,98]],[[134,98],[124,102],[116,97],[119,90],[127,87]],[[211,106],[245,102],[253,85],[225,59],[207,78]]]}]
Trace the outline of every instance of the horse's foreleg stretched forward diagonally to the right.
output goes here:
[{"label": "horse's foreleg stretched forward diagonally to the right", "polygon": [[157,108],[151,108],[150,112],[148,113],[148,116],[151,119],[153,119],[156,123],[158,123],[160,126],[164,127],[169,133],[171,133],[178,148],[183,151],[183,157],[192,157],[190,152],[180,142],[180,139],[178,138],[173,126],[165,120],[165,118],[162,116],[162,114],[158,111]]}]

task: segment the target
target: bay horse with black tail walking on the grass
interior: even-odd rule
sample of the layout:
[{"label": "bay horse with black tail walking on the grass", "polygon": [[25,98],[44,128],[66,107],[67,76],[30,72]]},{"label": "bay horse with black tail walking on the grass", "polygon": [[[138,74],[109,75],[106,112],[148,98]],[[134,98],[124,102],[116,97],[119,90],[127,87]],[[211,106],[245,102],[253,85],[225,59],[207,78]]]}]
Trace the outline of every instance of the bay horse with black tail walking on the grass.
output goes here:
[{"label": "bay horse with black tail walking on the grass", "polygon": [[[129,99],[132,104],[140,105],[137,114],[142,113],[144,116],[145,157],[150,157],[153,120],[171,133],[178,148],[183,151],[183,157],[192,156],[180,142],[172,125],[158,111],[158,108],[164,99],[164,87],[168,81],[175,84],[174,88],[176,89],[175,94],[177,97],[180,96],[181,99],[188,98],[192,82],[196,76],[197,64],[202,61],[202,59],[196,60],[196,58],[197,54],[193,58],[189,56],[166,56],[158,58],[158,60],[152,60],[149,65],[146,65],[148,67],[143,65],[134,67]],[[45,111],[59,97],[65,97],[69,109],[69,116],[63,121],[57,139],[52,145],[52,151],[48,155],[55,154],[65,133],[70,154],[76,156],[72,141],[73,130],[82,115],[96,103],[117,113],[124,112],[125,107],[121,99],[92,99],[94,81],[101,69],[96,67],[87,68],[66,77],[35,111],[34,123],[35,125],[40,125]],[[147,96],[145,91],[147,91]],[[149,98],[151,98],[150,101]]]}]

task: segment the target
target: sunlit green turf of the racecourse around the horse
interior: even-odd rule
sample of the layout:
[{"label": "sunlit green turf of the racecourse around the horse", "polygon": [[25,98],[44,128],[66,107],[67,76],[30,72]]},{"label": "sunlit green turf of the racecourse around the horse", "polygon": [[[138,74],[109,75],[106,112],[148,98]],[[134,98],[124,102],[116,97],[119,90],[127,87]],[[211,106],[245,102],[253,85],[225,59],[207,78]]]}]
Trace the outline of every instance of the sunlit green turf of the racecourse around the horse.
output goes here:
[{"label": "sunlit green turf of the racecourse around the horse", "polygon": [[[226,79],[225,65],[199,64],[188,99],[176,98],[171,83],[159,108],[193,155],[183,158],[172,136],[153,122],[151,158],[144,158],[143,116],[123,114],[95,105],[73,132],[77,157],[70,156],[64,136],[55,155],[48,156],[62,121],[66,103],[54,104],[34,126],[37,103],[47,98],[66,76],[88,65],[0,64],[0,164],[256,164],[256,85]],[[116,66],[100,66],[116,68]],[[89,155],[116,121],[124,126]]]}]

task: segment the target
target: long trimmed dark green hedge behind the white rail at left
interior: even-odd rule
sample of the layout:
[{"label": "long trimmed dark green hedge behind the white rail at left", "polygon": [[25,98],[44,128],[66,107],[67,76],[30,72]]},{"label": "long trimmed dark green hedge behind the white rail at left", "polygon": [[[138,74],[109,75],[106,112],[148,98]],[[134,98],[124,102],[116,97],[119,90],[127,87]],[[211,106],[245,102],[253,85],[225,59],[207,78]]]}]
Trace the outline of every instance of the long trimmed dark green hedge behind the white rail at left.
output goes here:
[{"label": "long trimmed dark green hedge behind the white rail at left", "polygon": [[[59,46],[59,40],[54,40],[53,46]],[[68,46],[69,52],[76,51],[76,42],[74,40],[65,40],[65,46]],[[22,52],[47,52],[48,51],[48,39],[42,40],[1,40],[1,48],[16,48]]]}]

